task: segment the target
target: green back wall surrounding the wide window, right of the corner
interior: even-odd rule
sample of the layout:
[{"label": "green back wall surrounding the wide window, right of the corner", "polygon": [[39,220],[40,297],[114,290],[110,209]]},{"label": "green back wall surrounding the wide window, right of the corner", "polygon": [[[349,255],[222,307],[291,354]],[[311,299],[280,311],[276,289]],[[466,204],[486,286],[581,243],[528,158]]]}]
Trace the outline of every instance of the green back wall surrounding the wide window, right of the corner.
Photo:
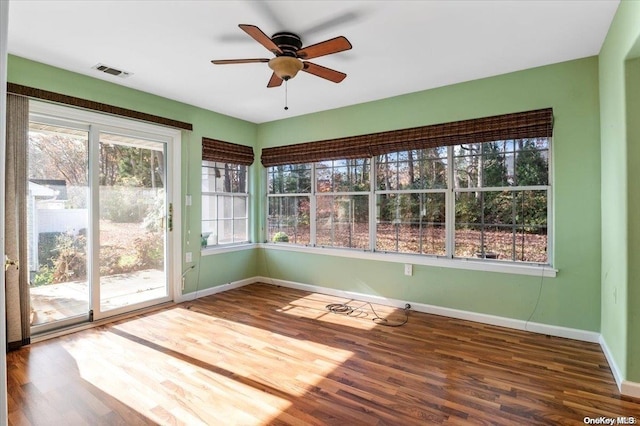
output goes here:
[{"label": "green back wall surrounding the wide window, right of the corner", "polygon": [[[531,321],[599,331],[598,105],[598,60],[593,57],[258,127],[258,146],[264,148],[552,107],[556,278],[418,265],[406,277],[398,263],[269,249],[260,256],[266,261],[261,271],[273,278],[521,320],[529,318],[540,292]],[[262,212],[261,229],[264,217]]]}]

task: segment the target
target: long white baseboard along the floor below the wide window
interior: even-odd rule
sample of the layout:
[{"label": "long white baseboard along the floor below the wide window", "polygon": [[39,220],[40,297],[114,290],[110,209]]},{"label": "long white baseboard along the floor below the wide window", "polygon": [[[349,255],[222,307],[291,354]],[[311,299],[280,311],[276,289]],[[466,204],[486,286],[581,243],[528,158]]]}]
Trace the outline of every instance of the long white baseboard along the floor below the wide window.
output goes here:
[{"label": "long white baseboard along the floor below the wide window", "polygon": [[585,342],[598,343],[600,333],[593,331],[578,330],[574,328],[560,327],[555,325],[533,323],[512,318],[499,317],[496,315],[480,314],[476,312],[462,311],[459,309],[444,308],[441,306],[416,303],[411,300],[390,299],[381,296],[373,296],[362,293],[337,290],[316,285],[301,284],[293,281],[278,280],[266,277],[256,277],[257,281],[268,284],[280,285],[282,287],[296,288],[316,293],[328,294],[331,296],[344,297],[349,299],[362,300],[364,302],[379,303],[381,305],[404,308],[406,303],[411,304],[411,309],[427,314],[441,315],[450,318],[458,318],[467,321],[475,321],[483,324],[497,325],[500,327],[513,328],[516,330],[526,330],[533,333],[547,334],[550,336],[564,337],[567,339],[582,340]]}]

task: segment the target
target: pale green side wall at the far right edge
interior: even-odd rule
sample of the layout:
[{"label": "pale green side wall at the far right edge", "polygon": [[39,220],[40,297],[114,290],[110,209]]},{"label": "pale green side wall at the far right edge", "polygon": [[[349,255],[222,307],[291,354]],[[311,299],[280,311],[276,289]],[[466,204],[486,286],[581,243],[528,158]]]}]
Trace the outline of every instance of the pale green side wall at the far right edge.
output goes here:
[{"label": "pale green side wall at the far right edge", "polygon": [[[640,2],[622,1],[600,51],[602,144],[601,333],[623,378],[639,382],[640,229],[637,219],[640,152],[637,83],[627,64],[638,54]],[[638,77],[635,77],[637,80]],[[635,92],[635,93],[634,93]],[[635,99],[634,99],[635,96]],[[628,110],[629,108],[629,110]],[[635,113],[635,118],[630,116]]]}]

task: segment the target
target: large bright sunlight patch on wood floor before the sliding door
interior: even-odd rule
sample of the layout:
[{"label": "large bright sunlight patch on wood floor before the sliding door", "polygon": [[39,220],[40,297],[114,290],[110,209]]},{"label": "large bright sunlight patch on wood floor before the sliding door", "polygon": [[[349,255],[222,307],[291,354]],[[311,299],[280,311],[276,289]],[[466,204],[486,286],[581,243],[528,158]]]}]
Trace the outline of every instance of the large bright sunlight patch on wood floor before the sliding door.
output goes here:
[{"label": "large bright sunlight patch on wood floor before the sliding door", "polygon": [[[190,322],[200,327],[184,328],[182,337],[172,340],[167,336],[175,336],[175,330],[163,330],[175,327],[177,316],[183,328]],[[215,335],[198,331],[209,329],[203,322],[215,323]],[[299,369],[308,363],[309,374],[320,383],[353,355],[304,336],[180,308],[91,333],[82,339],[70,335],[63,344],[80,376],[160,424],[268,423],[309,391],[308,382],[290,376],[291,364]],[[310,344],[329,361],[293,355],[296,347]]]}]

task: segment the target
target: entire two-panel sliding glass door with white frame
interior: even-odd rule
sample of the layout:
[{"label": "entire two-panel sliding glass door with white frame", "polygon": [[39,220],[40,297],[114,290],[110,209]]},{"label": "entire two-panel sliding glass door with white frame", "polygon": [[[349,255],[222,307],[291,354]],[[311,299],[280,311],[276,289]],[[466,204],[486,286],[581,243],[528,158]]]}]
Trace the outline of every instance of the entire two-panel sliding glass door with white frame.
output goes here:
[{"label": "entire two-panel sliding glass door with white frame", "polygon": [[179,132],[33,104],[33,333],[170,301],[179,259],[169,255],[179,241],[170,165]]}]

